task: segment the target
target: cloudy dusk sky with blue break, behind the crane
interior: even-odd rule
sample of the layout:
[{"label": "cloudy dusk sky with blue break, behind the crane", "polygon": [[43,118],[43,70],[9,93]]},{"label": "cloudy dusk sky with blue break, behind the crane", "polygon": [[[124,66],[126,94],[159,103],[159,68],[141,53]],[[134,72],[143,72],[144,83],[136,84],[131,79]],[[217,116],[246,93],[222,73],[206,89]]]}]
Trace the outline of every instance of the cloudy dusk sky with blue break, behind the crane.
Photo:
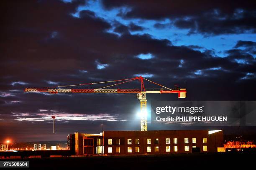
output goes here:
[{"label": "cloudy dusk sky with blue break, behind the crane", "polygon": [[[186,82],[185,100],[256,100],[255,1],[0,3],[0,142],[66,140],[74,132],[99,133],[101,120],[104,130],[140,129],[136,94],[25,93],[28,87],[143,76],[167,87],[183,88]],[[146,82],[145,86],[156,88]],[[118,88],[139,89],[140,82]],[[148,94],[147,99],[150,106],[152,100],[178,97]],[[148,129],[174,127],[149,123]],[[255,127],[243,129],[256,132]]]}]

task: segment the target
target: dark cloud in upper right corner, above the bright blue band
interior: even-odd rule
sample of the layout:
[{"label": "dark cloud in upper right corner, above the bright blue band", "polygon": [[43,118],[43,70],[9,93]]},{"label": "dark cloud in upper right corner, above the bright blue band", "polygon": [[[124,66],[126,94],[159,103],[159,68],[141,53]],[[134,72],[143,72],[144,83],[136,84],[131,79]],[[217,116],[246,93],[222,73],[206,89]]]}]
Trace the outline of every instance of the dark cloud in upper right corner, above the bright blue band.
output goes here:
[{"label": "dark cloud in upper right corner, above the bright blue band", "polygon": [[[255,1],[200,0],[195,3],[190,0],[162,0],[156,3],[154,0],[104,0],[102,3],[106,9],[129,8],[128,12],[120,12],[123,18],[170,19],[176,27],[189,29],[190,34],[256,33]],[[154,26],[162,29],[169,24],[156,23]]]}]

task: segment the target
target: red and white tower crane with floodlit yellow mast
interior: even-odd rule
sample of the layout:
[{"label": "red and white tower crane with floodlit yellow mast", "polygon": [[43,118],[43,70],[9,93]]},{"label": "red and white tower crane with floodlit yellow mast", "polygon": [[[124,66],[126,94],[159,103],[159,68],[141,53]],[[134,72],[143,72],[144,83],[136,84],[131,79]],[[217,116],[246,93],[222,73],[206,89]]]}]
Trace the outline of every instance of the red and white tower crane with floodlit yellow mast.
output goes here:
[{"label": "red and white tower crane with floodlit yellow mast", "polygon": [[[124,83],[128,83],[130,81],[135,81],[135,80],[138,80],[141,82],[140,89],[105,89],[111,86],[116,86],[119,84],[124,84]],[[161,86],[161,89],[145,89],[143,80],[146,80],[153,84]],[[115,84],[101,87],[98,89],[62,89],[63,87],[104,84],[104,83],[111,83],[111,82],[115,82]],[[187,94],[186,89],[180,89],[177,86],[175,88],[170,89],[154,81],[143,78],[142,76],[131,78],[131,79],[103,81],[103,82],[87,83],[87,84],[75,84],[75,85],[44,87],[44,88],[26,88],[25,92],[47,92],[50,94],[57,94],[57,93],[131,93],[132,94],[132,93],[136,93],[137,99],[139,99],[141,102],[141,131],[147,130],[147,114],[146,114],[146,110],[147,110],[146,94],[147,93],[159,93],[159,94],[178,93],[178,98],[186,98],[186,94]]]}]

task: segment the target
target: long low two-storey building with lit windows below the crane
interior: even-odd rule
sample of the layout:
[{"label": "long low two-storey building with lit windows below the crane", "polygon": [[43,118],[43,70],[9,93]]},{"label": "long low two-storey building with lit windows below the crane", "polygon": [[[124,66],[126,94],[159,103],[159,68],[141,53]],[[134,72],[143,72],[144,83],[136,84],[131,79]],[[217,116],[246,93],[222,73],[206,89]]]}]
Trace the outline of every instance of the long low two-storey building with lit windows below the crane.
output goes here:
[{"label": "long low two-storey building with lit windows below the crane", "polygon": [[138,155],[221,152],[222,130],[104,131],[102,134],[69,135],[76,155]]}]

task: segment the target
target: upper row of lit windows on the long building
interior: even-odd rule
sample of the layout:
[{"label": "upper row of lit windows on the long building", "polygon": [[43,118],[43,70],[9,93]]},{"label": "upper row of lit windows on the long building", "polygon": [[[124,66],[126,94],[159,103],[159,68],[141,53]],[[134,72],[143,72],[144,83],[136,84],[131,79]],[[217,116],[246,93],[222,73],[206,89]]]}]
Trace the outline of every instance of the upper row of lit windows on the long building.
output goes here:
[{"label": "upper row of lit windows on the long building", "polygon": [[[203,143],[207,143],[207,138],[203,137]],[[178,138],[173,138],[173,143],[178,143]],[[189,138],[184,138],[184,143],[189,143]],[[192,143],[196,143],[196,138],[192,138]],[[132,139],[127,139],[127,144],[132,144]],[[140,144],[140,139],[135,139],[135,144]],[[151,139],[147,139],[147,144],[151,144]],[[154,144],[159,144],[159,139],[156,138]],[[170,138],[166,138],[166,144],[170,144]],[[108,145],[112,145],[112,139],[108,139]],[[120,139],[116,140],[116,145],[120,145]]]}]

